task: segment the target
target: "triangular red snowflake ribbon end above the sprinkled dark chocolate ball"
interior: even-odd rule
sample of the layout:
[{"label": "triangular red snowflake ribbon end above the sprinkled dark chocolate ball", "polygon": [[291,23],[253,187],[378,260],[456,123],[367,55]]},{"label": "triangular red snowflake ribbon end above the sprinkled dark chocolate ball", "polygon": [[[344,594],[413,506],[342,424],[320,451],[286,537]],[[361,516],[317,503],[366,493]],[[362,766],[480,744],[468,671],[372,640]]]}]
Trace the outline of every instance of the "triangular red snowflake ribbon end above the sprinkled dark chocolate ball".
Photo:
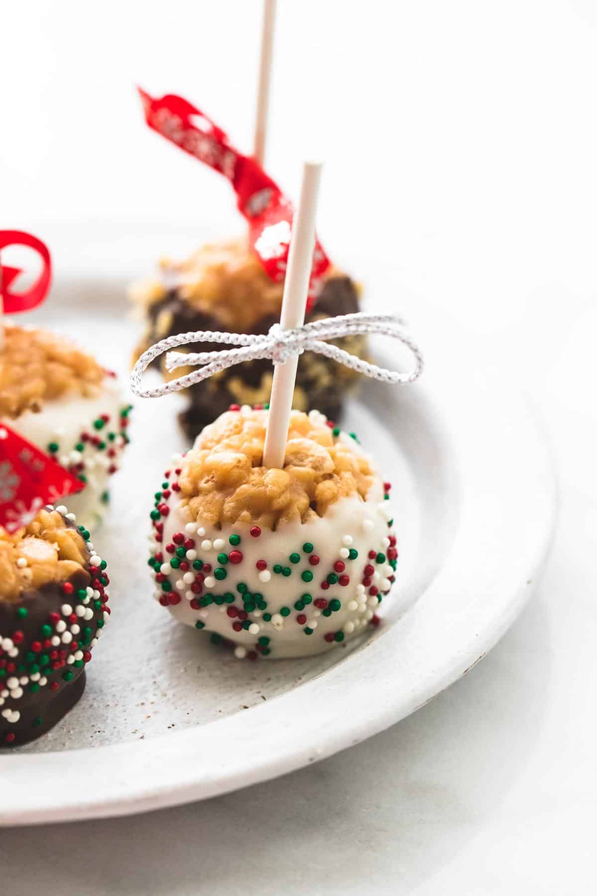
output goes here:
[{"label": "triangular red snowflake ribbon end above the sprinkled dark chocolate ball", "polygon": [[45,504],[55,504],[82,487],[81,479],[0,424],[0,526],[6,531],[29,525]]}]

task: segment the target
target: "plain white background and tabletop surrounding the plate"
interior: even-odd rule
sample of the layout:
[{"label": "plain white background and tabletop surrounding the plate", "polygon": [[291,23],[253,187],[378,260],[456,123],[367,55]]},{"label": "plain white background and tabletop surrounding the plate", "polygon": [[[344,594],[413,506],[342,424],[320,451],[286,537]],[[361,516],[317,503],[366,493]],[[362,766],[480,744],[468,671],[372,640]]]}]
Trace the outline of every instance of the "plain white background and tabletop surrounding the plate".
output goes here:
[{"label": "plain white background and tabletop surrounding the plate", "polygon": [[[186,95],[248,147],[259,14],[4,8],[0,227],[55,234],[62,272],[97,264],[99,241],[73,259],[61,223],[163,223],[165,251],[171,226],[238,227],[226,183],[146,132],[132,83]],[[202,805],[0,831],[14,896],[590,892],[596,36],[590,0],[282,0],[269,170],[293,193],[300,147],[323,152],[330,254],[363,280],[389,256],[405,296],[519,373],[559,462],[553,556],[498,648],[365,744]]]}]

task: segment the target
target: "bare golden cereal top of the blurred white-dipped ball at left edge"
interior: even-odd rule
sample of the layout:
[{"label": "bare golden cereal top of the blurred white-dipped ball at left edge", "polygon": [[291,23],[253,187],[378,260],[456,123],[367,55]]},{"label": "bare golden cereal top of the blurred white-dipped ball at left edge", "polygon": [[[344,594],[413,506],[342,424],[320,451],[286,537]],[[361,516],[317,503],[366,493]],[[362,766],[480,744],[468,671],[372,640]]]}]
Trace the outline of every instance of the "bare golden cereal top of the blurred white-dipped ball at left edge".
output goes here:
[{"label": "bare golden cereal top of the blurred white-dipped ball at left edge", "polygon": [[41,410],[66,392],[92,394],[105,376],[98,362],[47,330],[5,327],[0,349],[0,418]]}]

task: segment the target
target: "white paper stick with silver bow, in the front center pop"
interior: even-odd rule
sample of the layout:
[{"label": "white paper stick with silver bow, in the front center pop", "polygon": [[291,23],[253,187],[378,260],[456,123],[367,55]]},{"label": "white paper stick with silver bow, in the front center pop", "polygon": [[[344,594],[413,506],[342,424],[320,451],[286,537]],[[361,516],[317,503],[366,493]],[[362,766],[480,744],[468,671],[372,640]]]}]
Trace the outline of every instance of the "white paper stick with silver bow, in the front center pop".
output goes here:
[{"label": "white paper stick with silver bow, in the front center pop", "polygon": [[[280,314],[282,330],[292,330],[304,323],[315,248],[315,217],[320,176],[321,162],[304,163],[303,184],[298,206],[294,212],[282,297]],[[284,467],[297,365],[298,358],[290,358],[286,364],[277,364],[274,368],[268,429],[263,450],[263,464],[266,467],[277,467],[280,470]]]}]

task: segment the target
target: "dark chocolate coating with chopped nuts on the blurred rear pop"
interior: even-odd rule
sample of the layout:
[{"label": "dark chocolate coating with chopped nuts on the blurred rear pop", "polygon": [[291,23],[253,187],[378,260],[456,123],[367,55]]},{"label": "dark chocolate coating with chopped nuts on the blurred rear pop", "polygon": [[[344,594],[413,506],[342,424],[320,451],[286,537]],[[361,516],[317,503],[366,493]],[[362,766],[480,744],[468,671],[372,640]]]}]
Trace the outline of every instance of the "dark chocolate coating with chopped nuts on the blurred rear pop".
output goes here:
[{"label": "dark chocolate coating with chopped nuts on the blurred rear pop", "polygon": [[[359,310],[359,300],[354,282],[343,274],[333,274],[325,281],[320,292],[317,305],[307,314],[306,322],[320,317],[335,317],[337,314],[354,314]],[[167,332],[158,332],[156,323],[160,314],[171,315],[172,321]],[[253,326],[253,333],[267,333],[277,317],[268,315],[261,317]],[[217,317],[198,312],[187,301],[179,297],[176,289],[166,297],[149,306],[149,333],[147,345],[175,333],[196,330],[226,330]],[[353,337],[351,340],[336,340],[337,344],[348,351],[363,353],[364,340]],[[213,342],[195,342],[186,347],[188,351],[213,351],[221,346]],[[262,377],[271,373],[269,360],[247,361],[241,365],[230,367],[222,374],[212,377],[203,383],[195,383],[188,390],[189,405],[180,416],[185,433],[194,439],[206,424],[211,423],[231,404],[257,404],[269,401],[269,392],[263,392]],[[299,358],[296,386],[302,390],[306,400],[307,411],[317,408],[329,419],[337,420],[342,412],[344,393],[354,381],[354,372],[341,368],[335,361],[313,355],[311,352]],[[239,394],[238,381],[242,383]],[[234,381],[235,389],[230,388]]]}]

